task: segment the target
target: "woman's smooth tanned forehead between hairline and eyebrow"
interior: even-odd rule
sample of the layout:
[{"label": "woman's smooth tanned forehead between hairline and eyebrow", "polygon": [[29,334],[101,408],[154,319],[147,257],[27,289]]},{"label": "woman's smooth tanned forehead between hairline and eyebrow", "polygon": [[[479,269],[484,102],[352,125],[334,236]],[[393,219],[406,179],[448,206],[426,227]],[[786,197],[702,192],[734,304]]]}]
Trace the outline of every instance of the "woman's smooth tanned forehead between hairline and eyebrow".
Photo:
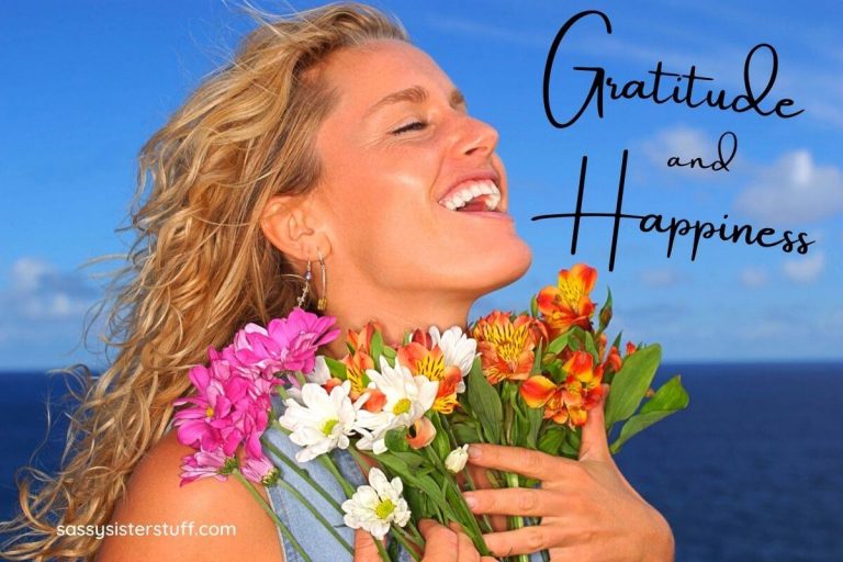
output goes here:
[{"label": "woman's smooth tanned forehead between hairline and eyebrow", "polygon": [[430,56],[403,41],[373,41],[335,53],[323,79],[338,94],[338,105],[366,111],[384,95],[411,86],[446,95],[453,85]]}]

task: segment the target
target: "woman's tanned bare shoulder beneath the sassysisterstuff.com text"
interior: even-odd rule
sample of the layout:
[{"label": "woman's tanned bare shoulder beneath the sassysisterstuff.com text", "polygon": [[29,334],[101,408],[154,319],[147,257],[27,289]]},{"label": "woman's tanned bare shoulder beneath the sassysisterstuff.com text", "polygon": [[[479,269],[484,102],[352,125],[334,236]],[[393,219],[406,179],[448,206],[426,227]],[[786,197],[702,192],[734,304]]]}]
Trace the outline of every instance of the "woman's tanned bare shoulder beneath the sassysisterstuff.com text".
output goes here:
[{"label": "woman's tanned bare shoulder beneath the sassysisterstuff.com text", "polygon": [[97,560],[282,562],[274,524],[239,481],[179,485],[182,458],[190,453],[173,431],[149,450],[114,508],[114,532]]}]

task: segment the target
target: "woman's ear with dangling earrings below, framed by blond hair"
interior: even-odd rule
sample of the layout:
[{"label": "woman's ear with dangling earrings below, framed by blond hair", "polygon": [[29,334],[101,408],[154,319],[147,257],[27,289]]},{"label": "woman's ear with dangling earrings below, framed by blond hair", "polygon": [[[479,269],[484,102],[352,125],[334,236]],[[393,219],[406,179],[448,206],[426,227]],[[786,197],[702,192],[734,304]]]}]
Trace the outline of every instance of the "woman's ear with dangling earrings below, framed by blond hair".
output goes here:
[{"label": "woman's ear with dangling earrings below, framed by blond hair", "polygon": [[314,261],[319,252],[326,257],[330,243],[319,221],[311,212],[310,198],[274,195],[260,217],[263,236],[291,261]]}]

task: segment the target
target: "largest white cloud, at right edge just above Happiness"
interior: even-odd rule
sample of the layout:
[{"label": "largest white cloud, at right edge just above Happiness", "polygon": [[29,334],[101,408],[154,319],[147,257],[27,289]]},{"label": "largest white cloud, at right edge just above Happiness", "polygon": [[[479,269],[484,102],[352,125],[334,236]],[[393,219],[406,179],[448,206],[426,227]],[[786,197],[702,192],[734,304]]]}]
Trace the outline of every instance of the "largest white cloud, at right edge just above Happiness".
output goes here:
[{"label": "largest white cloud, at right edge just above Happiness", "polygon": [[771,224],[802,224],[843,211],[843,172],[813,161],[808,150],[787,153],[762,169],[734,207]]}]

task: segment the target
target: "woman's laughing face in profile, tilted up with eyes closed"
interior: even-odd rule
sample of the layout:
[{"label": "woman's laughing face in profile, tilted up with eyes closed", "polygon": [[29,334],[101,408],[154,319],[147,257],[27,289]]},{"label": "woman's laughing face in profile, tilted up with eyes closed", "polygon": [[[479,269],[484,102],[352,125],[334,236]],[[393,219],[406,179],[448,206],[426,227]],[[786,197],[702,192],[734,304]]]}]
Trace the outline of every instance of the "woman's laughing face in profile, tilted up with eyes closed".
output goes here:
[{"label": "woman's laughing face in profile, tilted up with eyes closed", "polygon": [[428,55],[372,42],[336,53],[324,78],[338,99],[316,139],[314,198],[328,213],[331,276],[476,297],[525,273],[498,134]]}]

